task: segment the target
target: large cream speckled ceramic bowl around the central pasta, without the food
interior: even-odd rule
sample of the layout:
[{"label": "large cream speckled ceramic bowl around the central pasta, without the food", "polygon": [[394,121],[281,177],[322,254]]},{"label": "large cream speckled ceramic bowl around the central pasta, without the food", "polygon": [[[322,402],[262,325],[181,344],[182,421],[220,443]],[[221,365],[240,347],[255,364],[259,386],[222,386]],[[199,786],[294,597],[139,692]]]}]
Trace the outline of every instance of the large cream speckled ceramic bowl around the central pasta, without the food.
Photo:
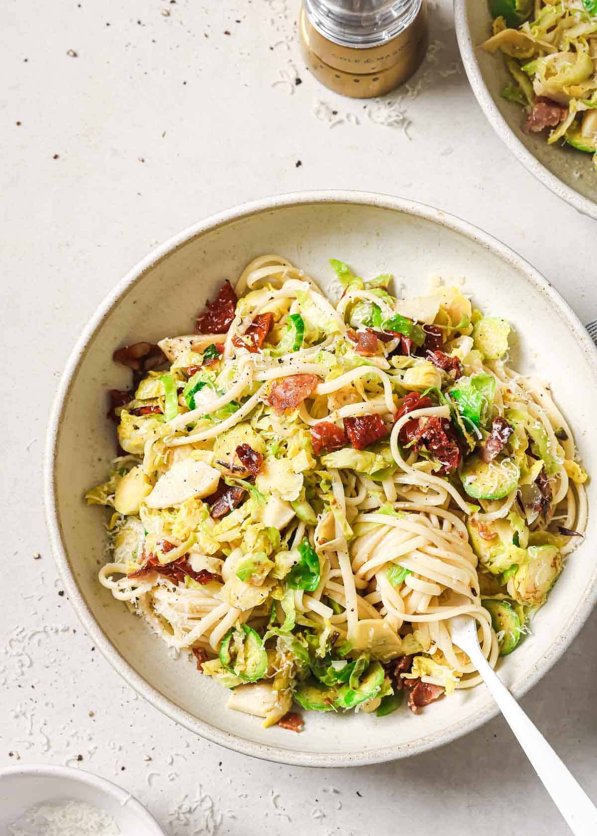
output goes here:
[{"label": "large cream speckled ceramic bowl around the central pasta, without the food", "polygon": [[[576,429],[589,472],[597,447],[584,433],[597,415],[597,351],[584,327],[549,283],[508,247],[457,218],[394,197],[310,192],[241,206],[172,238],[138,264],[105,299],[74,347],[48,429],[45,499],[64,587],[85,629],[141,695],[207,739],[249,755],[307,766],[349,766],[406,757],[469,732],[495,713],[483,687],[460,691],[413,716],[406,709],[375,716],[309,713],[305,731],[227,711],[227,691],[166,648],[97,581],[105,515],[86,507],[86,488],[105,477],[115,454],[114,426],[103,394],[129,383],[114,349],[140,339],[185,334],[224,278],[234,282],[260,253],[278,252],[325,288],[329,257],[360,275],[395,274],[407,294],[425,293],[431,274],[467,278],[477,304],[509,319],[520,338],[513,361],[554,382],[557,400]],[[331,275],[330,275],[331,274]],[[582,392],[582,396],[579,396]],[[589,486],[589,498],[593,488]],[[594,538],[597,515],[589,519]],[[558,659],[597,597],[593,547],[569,565],[536,619],[533,637],[500,665],[520,696]]]}]

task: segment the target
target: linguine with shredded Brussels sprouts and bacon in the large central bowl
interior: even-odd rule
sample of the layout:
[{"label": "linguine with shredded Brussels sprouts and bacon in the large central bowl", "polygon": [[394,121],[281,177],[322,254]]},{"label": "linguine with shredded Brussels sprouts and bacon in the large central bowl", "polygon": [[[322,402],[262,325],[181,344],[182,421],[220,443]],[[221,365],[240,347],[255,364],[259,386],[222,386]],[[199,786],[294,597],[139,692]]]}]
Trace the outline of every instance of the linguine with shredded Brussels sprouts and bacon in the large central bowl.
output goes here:
[{"label": "linguine with shredded Brussels sprouts and bacon in the large central bowl", "polygon": [[397,298],[335,259],[332,303],[286,259],[222,285],[196,333],[115,352],[118,456],[99,581],[228,705],[417,713],[528,632],[587,520],[549,385],[510,368],[504,319],[437,281]]}]

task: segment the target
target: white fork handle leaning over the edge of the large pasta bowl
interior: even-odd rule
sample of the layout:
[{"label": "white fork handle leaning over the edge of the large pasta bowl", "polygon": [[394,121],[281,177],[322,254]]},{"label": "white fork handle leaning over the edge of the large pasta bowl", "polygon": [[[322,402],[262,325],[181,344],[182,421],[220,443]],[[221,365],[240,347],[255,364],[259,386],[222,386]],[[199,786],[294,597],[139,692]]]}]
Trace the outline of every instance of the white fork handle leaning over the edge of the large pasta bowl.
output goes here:
[{"label": "white fork handle leaning over the edge of the large pasta bowl", "polygon": [[570,830],[575,836],[595,836],[597,808],[589,796],[528,719],[491,665],[487,664],[478,646],[474,650],[467,650],[467,653]]}]

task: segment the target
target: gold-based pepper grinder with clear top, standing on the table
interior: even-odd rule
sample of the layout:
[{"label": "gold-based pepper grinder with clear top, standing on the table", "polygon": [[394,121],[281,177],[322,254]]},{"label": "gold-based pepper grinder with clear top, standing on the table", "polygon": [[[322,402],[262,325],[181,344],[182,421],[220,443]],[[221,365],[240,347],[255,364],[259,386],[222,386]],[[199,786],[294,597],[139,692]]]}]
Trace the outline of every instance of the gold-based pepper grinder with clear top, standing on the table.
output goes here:
[{"label": "gold-based pepper grinder with clear top, standing on the table", "polygon": [[307,66],[335,93],[371,99],[403,84],[425,57],[425,0],[303,0]]}]

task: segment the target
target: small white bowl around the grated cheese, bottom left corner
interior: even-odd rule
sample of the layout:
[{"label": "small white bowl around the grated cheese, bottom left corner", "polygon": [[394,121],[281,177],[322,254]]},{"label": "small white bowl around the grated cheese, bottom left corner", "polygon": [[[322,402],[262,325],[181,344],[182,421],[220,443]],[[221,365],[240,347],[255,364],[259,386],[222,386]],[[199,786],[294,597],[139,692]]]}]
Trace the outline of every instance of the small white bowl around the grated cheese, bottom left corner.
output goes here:
[{"label": "small white bowl around the grated cheese, bottom left corner", "polygon": [[10,767],[0,770],[0,836],[40,803],[82,801],[109,813],[122,836],[165,836],[136,798],[111,781],[68,767]]}]

